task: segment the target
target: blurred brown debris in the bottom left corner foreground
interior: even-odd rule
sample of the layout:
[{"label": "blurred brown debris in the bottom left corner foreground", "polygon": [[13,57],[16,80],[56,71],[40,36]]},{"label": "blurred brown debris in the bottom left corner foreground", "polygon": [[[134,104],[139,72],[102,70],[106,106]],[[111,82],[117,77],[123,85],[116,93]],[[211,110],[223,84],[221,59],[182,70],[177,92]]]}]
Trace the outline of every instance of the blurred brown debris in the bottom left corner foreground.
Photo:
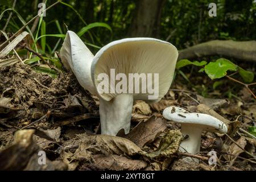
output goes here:
[{"label": "blurred brown debris in the bottom left corner foreground", "polygon": [[38,163],[38,152],[41,149],[32,140],[34,132],[32,129],[16,131],[14,143],[0,152],[1,170],[55,170],[67,168],[64,163],[51,162],[47,158],[45,165]]}]

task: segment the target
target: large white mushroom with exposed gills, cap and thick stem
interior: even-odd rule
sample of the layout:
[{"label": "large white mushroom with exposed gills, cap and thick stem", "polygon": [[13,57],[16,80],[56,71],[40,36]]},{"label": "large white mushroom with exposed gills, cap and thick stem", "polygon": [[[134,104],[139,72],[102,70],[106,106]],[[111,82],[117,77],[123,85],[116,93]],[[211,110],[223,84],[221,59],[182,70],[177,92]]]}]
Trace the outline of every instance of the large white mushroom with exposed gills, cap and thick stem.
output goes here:
[{"label": "large white mushroom with exposed gills, cap and thick stem", "polygon": [[[116,135],[121,129],[126,134],[129,133],[133,101],[158,102],[168,92],[174,77],[177,56],[177,49],[172,44],[152,38],[117,40],[97,52],[91,72],[93,84],[100,96],[101,134]],[[155,82],[155,79],[152,82],[147,80],[147,89],[157,87],[158,93],[152,96],[147,89],[143,89],[144,82],[140,81],[139,93],[130,93],[129,89],[134,90],[134,87],[127,84],[125,92],[116,92],[114,85],[117,81],[112,78],[110,81],[106,80],[106,84],[110,85],[110,93],[100,92],[98,86],[101,80],[98,76],[105,73],[111,77],[111,69],[116,75],[123,73],[122,79],[123,76],[129,78],[129,73],[157,73],[159,82]],[[138,80],[135,81],[137,83]]]}]

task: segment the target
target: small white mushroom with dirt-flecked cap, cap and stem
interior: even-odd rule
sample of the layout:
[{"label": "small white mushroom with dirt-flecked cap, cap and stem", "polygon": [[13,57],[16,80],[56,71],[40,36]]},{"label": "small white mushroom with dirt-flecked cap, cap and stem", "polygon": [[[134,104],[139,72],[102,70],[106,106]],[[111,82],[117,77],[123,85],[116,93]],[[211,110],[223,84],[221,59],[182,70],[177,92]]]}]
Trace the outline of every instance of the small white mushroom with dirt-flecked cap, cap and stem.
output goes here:
[{"label": "small white mushroom with dirt-flecked cap, cap and stem", "polygon": [[[181,133],[188,138],[180,144],[180,151],[196,154],[200,152],[203,131],[226,133],[228,127],[224,122],[208,114],[189,113],[180,107],[170,106],[163,110],[163,117],[181,124]],[[185,158],[191,160],[191,158]],[[197,160],[195,160],[197,161]]]}]

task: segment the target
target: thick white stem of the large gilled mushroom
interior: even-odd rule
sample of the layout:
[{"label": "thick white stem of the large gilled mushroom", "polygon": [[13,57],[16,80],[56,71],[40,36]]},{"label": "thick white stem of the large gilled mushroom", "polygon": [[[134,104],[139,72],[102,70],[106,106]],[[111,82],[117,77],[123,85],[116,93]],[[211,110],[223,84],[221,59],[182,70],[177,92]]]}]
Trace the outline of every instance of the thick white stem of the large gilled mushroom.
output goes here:
[{"label": "thick white stem of the large gilled mushroom", "polygon": [[130,131],[133,94],[119,94],[111,101],[100,98],[101,134],[117,135],[121,129]]}]

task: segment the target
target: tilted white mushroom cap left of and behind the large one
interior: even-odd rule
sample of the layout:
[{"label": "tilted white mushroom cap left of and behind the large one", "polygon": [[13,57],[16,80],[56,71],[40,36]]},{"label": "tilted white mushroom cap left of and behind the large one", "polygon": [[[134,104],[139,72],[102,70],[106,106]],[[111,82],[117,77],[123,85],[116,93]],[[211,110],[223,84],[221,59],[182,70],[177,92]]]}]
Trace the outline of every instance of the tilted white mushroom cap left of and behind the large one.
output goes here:
[{"label": "tilted white mushroom cap left of and behind the large one", "polygon": [[67,32],[60,56],[64,67],[72,70],[79,84],[90,93],[96,94],[90,73],[94,56],[75,32]]}]

